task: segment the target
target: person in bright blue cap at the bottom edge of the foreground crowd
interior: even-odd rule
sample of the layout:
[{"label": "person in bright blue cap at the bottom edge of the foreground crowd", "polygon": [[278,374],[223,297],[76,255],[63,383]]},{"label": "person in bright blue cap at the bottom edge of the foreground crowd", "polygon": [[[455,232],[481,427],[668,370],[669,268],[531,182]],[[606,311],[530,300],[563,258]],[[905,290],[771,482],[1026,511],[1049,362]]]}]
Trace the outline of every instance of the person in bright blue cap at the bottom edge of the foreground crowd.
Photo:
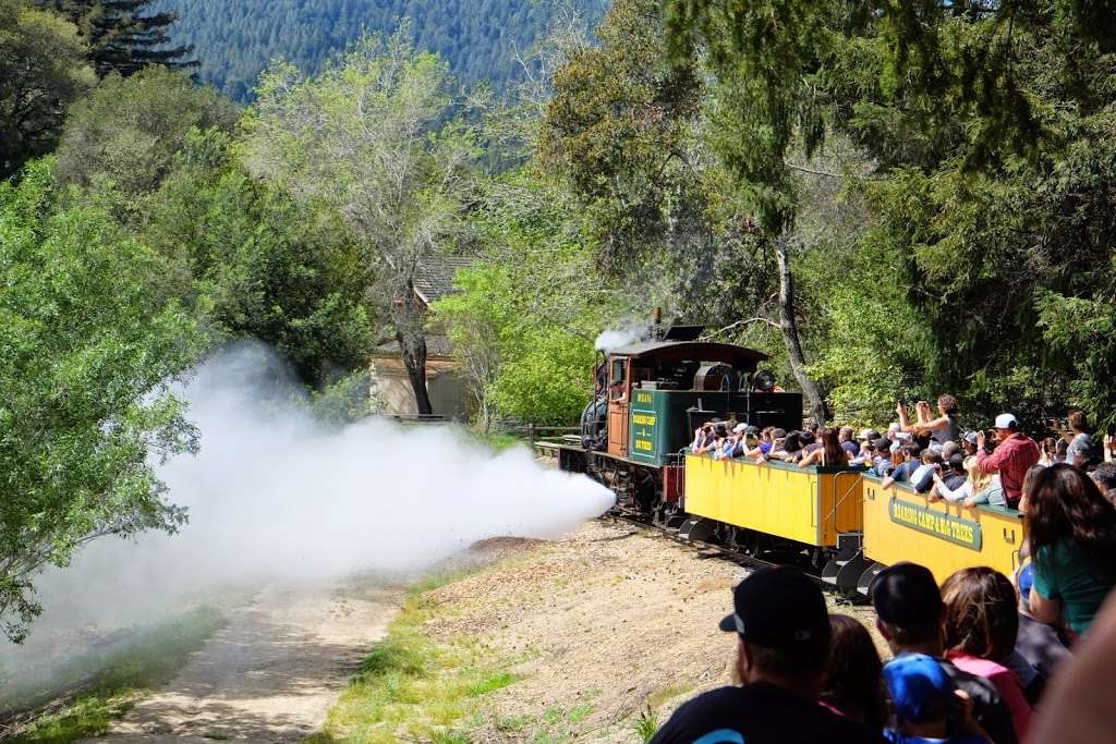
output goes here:
[{"label": "person in bright blue cap at the bottom edge of the foreground crowd", "polygon": [[895,727],[884,731],[894,744],[987,744],[971,708],[953,680],[925,654],[898,656],[883,669],[895,711]]}]

